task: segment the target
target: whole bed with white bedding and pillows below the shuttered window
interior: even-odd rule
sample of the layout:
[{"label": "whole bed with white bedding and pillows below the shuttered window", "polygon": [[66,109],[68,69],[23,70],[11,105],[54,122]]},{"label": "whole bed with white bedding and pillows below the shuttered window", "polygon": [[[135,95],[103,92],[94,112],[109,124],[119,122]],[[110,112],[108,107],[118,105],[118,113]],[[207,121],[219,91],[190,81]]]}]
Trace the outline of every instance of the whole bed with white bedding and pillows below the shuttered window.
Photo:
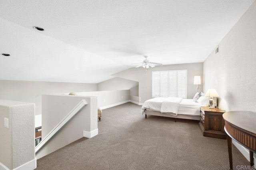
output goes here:
[{"label": "whole bed with white bedding and pillows below the shuttered window", "polygon": [[[208,99],[202,97],[204,100],[194,102],[193,99],[182,99],[179,97],[156,97],[149,99],[142,105],[142,115],[154,115],[162,117],[171,117],[178,119],[200,120],[200,106],[207,106]],[[207,101],[205,103],[205,101]],[[176,122],[176,119],[175,119]]]}]

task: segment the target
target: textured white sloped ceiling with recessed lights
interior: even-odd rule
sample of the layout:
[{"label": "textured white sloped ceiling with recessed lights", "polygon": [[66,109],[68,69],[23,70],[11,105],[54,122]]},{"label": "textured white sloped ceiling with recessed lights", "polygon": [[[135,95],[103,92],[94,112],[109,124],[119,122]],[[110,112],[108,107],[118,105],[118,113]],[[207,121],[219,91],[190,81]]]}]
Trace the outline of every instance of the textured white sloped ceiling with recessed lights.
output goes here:
[{"label": "textured white sloped ceiling with recessed lights", "polygon": [[[254,0],[0,2],[0,79],[98,83],[152,62],[202,62]],[[34,30],[40,26],[44,32]]]}]

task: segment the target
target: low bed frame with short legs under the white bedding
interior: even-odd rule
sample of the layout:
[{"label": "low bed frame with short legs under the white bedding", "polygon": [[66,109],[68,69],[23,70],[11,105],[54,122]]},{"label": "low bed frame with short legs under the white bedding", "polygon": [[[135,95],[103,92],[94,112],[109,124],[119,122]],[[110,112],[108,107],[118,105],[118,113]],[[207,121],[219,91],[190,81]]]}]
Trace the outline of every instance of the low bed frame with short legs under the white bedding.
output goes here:
[{"label": "low bed frame with short legs under the white bedding", "polygon": [[200,121],[200,116],[190,116],[190,115],[177,115],[177,116],[173,116],[173,115],[168,115],[166,113],[161,113],[161,112],[156,112],[156,111],[148,111],[145,110],[145,117],[147,119],[147,115],[153,115],[153,116],[162,116],[162,117],[172,117],[175,118],[175,122],[176,119],[190,119],[190,120],[196,120],[196,121]]}]

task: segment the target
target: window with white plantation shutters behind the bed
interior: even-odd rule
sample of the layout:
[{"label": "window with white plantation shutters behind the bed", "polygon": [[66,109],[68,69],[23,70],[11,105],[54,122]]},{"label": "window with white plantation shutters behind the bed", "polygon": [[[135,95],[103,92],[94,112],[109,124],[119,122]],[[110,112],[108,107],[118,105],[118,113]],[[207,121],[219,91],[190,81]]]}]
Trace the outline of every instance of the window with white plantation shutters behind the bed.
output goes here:
[{"label": "window with white plantation shutters behind the bed", "polygon": [[152,71],[152,97],[187,98],[187,70]]}]

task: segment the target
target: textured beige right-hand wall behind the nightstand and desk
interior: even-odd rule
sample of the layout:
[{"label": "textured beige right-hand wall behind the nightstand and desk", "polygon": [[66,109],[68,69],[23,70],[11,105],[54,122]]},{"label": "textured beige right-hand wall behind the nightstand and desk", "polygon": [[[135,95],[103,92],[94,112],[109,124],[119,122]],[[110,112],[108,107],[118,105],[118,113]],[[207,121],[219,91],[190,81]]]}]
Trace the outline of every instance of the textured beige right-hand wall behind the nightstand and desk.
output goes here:
[{"label": "textured beige right-hand wall behind the nightstand and desk", "polygon": [[204,91],[215,88],[226,111],[256,112],[256,2],[204,61]]}]

